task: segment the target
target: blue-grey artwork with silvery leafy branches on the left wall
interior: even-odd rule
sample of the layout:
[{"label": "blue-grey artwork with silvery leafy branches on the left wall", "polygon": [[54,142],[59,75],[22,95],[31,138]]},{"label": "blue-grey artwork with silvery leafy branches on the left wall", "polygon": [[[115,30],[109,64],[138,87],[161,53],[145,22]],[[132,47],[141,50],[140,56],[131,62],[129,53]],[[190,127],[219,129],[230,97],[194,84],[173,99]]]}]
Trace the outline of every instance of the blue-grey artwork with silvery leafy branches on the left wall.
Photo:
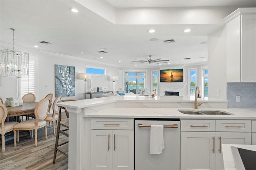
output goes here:
[{"label": "blue-grey artwork with silvery leafy branches on the left wall", "polygon": [[55,97],[75,95],[75,67],[55,64]]}]

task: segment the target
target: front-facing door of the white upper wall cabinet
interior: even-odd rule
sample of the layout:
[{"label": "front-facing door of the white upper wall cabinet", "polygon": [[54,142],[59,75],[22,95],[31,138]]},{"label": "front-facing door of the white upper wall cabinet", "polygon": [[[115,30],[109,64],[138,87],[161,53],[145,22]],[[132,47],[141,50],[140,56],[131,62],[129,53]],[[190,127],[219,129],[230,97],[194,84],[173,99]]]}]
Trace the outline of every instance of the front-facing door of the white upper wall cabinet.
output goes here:
[{"label": "front-facing door of the white upper wall cabinet", "polygon": [[241,82],[256,82],[256,14],[242,14]]}]

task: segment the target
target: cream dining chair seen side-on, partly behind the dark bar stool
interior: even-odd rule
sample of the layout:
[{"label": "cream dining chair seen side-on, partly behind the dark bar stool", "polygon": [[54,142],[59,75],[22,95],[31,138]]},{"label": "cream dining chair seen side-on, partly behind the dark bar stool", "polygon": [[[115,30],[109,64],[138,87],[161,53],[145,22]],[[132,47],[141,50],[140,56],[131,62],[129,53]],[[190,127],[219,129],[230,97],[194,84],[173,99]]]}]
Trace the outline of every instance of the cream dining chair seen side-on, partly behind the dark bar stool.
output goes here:
[{"label": "cream dining chair seen side-on, partly behind the dark bar stool", "polygon": [[59,113],[59,107],[56,105],[56,103],[58,101],[60,101],[62,95],[59,95],[58,97],[56,97],[56,99],[53,101],[52,103],[52,114],[48,113],[45,121],[49,122],[49,126],[51,127],[51,123],[52,122],[52,130],[53,130],[53,134],[55,134],[55,126],[54,126],[54,121],[56,121],[56,126],[58,127],[58,113]]}]

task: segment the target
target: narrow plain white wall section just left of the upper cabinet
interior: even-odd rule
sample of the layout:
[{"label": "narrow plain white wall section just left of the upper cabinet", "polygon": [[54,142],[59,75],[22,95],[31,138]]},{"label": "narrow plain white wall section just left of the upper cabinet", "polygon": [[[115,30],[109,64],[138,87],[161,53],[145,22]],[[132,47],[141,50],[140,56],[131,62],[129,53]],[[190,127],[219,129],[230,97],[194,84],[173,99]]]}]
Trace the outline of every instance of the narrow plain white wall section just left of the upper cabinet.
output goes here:
[{"label": "narrow plain white wall section just left of the upper cabinet", "polygon": [[226,28],[223,26],[208,36],[208,97],[226,100],[226,90]]}]

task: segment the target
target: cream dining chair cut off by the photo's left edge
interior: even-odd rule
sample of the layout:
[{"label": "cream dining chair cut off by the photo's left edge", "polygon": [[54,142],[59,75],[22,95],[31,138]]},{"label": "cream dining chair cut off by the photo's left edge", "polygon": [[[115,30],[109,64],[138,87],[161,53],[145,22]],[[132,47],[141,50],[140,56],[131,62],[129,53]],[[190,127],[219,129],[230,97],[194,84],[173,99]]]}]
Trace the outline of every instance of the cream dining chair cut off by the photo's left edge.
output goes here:
[{"label": "cream dining chair cut off by the photo's left edge", "polygon": [[7,117],[7,109],[6,106],[0,103],[0,134],[2,136],[2,152],[5,151],[5,137],[4,134],[6,132],[10,132],[13,130],[13,126],[18,124],[18,122],[5,122]]}]

